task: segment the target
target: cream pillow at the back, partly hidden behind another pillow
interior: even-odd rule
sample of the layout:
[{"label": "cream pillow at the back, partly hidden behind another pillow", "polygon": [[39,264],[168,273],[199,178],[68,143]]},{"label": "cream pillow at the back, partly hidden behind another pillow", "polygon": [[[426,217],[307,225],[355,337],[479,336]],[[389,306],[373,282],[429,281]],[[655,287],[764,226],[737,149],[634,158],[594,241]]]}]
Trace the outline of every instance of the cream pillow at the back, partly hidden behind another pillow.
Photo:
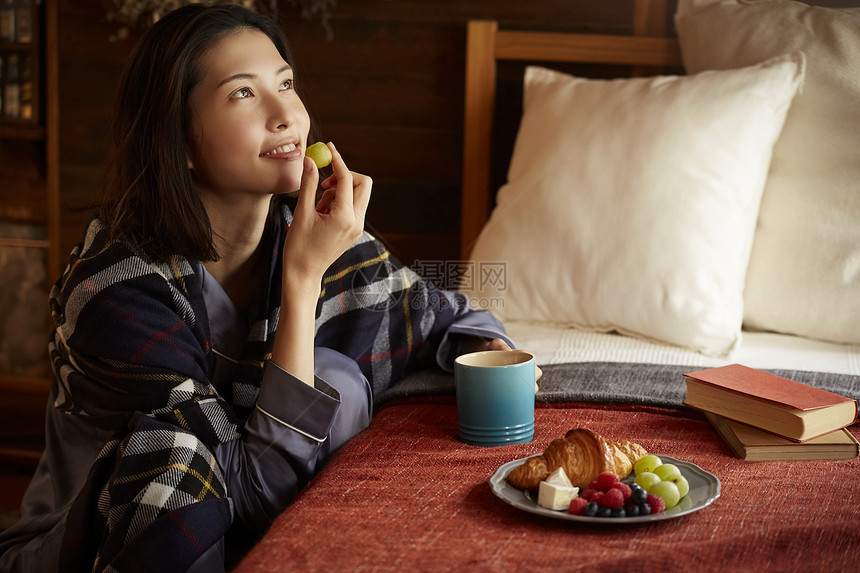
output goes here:
[{"label": "cream pillow at the back, partly hidden behind another pillow", "polygon": [[761,204],[745,323],[860,342],[860,8],[784,0],[681,0],[675,17],[689,73],[807,58]]}]

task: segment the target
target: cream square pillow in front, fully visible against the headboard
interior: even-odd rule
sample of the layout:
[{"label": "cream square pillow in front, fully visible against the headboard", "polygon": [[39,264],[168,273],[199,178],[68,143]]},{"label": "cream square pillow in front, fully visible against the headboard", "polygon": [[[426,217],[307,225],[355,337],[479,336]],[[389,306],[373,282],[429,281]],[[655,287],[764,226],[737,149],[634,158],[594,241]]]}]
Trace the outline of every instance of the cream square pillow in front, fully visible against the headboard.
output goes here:
[{"label": "cream square pillow in front, fully visible against the headboard", "polygon": [[504,290],[478,280],[468,294],[506,320],[728,353],[771,149],[802,78],[799,53],[620,80],[529,67],[508,182],[472,253],[506,265]]}]

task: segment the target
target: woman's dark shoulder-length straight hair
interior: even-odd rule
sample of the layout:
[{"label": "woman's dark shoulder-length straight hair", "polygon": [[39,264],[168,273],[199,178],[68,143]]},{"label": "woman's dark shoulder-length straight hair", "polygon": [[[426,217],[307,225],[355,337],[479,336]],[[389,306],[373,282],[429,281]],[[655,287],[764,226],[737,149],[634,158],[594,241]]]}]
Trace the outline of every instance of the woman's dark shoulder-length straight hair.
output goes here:
[{"label": "woman's dark shoulder-length straight hair", "polygon": [[[201,57],[225,36],[260,30],[293,64],[280,26],[239,6],[191,4],[150,28],[123,74],[99,209],[112,238],[158,260],[218,259],[209,217],[192,184],[191,93],[203,79]],[[273,199],[274,201],[274,199]]]}]

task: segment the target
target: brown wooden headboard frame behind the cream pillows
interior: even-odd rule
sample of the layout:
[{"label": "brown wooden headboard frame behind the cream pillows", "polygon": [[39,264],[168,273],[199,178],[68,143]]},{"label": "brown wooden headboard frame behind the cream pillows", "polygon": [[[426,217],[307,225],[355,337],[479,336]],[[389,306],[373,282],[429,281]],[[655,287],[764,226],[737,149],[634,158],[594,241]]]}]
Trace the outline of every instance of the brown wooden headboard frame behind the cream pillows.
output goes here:
[{"label": "brown wooden headboard frame behind the cream pillows", "polygon": [[469,22],[460,254],[468,260],[490,216],[496,62],[575,62],[634,66],[633,75],[681,67],[675,38],[665,36],[665,0],[636,0],[633,36],[499,30],[494,21]]}]

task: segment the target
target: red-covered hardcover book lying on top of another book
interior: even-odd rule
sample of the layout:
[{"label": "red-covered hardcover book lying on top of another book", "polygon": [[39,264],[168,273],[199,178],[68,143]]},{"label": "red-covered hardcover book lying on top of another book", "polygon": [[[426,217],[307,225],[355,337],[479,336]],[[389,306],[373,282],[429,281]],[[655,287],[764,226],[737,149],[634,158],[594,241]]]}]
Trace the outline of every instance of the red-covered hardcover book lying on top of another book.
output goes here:
[{"label": "red-covered hardcover book lying on top of another book", "polygon": [[796,442],[857,420],[856,400],[740,364],[685,377],[686,405]]}]

